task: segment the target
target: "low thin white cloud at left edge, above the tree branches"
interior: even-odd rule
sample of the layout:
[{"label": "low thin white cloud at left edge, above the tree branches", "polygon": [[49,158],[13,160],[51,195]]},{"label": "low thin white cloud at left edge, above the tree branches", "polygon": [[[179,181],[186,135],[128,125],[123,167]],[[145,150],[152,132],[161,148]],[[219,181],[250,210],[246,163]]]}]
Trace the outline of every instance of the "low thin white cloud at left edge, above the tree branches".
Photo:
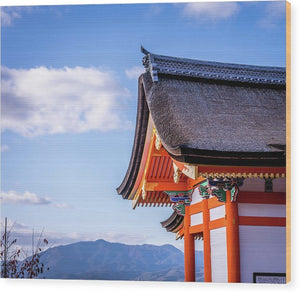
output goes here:
[{"label": "low thin white cloud at left edge, above the tree branches", "polygon": [[18,205],[52,205],[57,208],[69,207],[67,204],[56,203],[50,197],[41,197],[35,193],[25,191],[18,193],[14,190],[2,191],[0,199],[3,204],[18,204]]}]

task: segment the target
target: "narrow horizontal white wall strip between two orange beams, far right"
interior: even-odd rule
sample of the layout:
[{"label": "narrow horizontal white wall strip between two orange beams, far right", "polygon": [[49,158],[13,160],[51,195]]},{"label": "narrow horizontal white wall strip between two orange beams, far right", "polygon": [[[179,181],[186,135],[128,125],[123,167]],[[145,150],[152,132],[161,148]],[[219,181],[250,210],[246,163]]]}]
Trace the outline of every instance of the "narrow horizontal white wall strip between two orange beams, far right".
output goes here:
[{"label": "narrow horizontal white wall strip between two orange beams, far right", "polygon": [[239,203],[239,216],[285,217],[286,207],[279,204]]}]

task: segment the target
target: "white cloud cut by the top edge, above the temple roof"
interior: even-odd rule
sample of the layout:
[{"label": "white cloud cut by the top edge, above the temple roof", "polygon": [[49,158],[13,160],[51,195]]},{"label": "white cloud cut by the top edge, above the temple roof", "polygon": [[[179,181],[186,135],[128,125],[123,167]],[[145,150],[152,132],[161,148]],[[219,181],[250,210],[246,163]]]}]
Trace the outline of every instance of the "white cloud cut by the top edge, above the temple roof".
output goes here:
[{"label": "white cloud cut by the top edge, above the temple roof", "polygon": [[193,2],[184,5],[183,14],[202,20],[222,20],[232,17],[239,11],[236,2]]}]

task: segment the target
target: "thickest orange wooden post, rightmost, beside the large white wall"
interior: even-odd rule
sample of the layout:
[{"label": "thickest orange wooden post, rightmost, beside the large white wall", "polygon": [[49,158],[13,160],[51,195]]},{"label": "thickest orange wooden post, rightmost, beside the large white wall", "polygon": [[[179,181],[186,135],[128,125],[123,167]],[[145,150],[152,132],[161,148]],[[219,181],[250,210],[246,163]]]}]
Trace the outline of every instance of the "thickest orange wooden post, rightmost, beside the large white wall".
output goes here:
[{"label": "thickest orange wooden post, rightmost, beside the large white wall", "polygon": [[226,192],[226,238],[228,282],[240,282],[240,242],[237,202],[231,202],[230,191]]}]

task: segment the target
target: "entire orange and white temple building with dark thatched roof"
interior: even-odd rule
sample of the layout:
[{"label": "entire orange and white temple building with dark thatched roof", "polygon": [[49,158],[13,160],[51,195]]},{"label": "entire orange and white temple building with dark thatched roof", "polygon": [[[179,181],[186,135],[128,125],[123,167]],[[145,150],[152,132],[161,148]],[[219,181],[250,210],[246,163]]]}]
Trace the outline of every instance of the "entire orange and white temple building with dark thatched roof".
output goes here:
[{"label": "entire orange and white temple building with dark thatched roof", "polygon": [[195,281],[285,283],[286,71],[144,53],[129,167],[133,208],[170,206]]}]

